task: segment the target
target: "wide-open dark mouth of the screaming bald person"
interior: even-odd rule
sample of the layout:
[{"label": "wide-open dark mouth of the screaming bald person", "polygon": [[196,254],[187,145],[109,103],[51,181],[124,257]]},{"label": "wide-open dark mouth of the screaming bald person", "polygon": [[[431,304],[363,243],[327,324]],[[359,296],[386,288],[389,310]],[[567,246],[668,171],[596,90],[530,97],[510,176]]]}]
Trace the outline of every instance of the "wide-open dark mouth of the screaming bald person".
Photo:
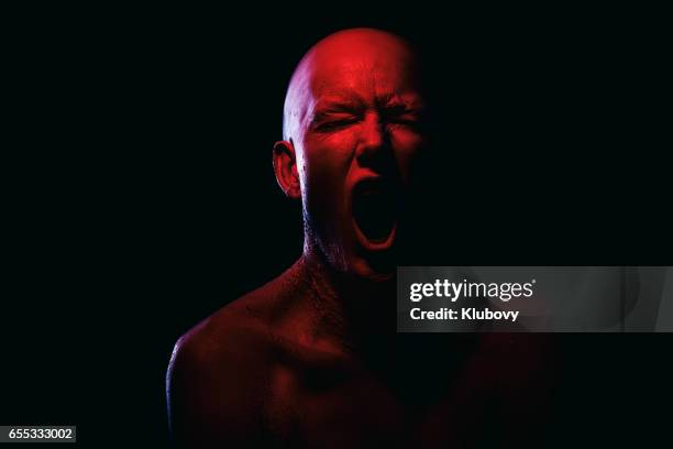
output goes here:
[{"label": "wide-open dark mouth of the screaming bald person", "polygon": [[353,189],[352,212],[358,237],[365,245],[386,245],[397,229],[399,193],[391,183],[365,179]]}]

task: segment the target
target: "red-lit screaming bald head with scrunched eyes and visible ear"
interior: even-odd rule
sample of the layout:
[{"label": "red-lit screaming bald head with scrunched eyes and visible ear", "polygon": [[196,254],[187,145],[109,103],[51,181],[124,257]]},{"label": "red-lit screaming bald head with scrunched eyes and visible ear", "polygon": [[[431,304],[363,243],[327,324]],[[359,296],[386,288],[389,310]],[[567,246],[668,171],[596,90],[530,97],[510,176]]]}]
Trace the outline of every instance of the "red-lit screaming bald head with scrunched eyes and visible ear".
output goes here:
[{"label": "red-lit screaming bald head with scrunched eyes and visible ear", "polygon": [[410,47],[376,30],[318,43],[297,67],[275,146],[280,186],[300,197],[305,252],[367,278],[391,275],[412,161],[423,146]]}]

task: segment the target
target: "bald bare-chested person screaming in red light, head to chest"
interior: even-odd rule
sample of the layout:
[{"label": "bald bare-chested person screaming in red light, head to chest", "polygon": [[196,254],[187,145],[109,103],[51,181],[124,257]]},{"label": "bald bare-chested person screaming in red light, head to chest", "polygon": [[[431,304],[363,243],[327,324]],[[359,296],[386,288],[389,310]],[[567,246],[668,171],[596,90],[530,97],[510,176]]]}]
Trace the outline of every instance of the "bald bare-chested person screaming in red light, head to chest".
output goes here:
[{"label": "bald bare-chested person screaming in red light, head to chest", "polygon": [[167,388],[178,443],[465,447],[536,435],[541,351],[395,331],[422,94],[413,51],[386,32],[342,31],[301,59],[273,162],[301,201],[304,253],[177,342]]}]

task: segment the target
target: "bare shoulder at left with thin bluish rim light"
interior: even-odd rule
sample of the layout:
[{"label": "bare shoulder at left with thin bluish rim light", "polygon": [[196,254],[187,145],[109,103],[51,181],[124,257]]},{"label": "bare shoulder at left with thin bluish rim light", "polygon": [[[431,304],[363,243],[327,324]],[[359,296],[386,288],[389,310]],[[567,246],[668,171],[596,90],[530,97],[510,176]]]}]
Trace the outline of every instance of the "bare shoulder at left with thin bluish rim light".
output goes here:
[{"label": "bare shoulder at left with thin bluish rim light", "polygon": [[195,326],[175,344],[166,388],[178,442],[253,443],[251,436],[262,434],[272,350],[264,317],[268,302],[263,292],[253,292]]}]

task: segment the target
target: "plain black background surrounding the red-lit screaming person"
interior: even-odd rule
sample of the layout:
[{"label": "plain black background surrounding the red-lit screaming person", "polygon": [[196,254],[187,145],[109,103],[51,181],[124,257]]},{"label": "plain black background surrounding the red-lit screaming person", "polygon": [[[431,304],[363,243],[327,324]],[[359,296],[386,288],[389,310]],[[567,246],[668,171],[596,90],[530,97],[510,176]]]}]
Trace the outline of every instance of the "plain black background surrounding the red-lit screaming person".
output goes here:
[{"label": "plain black background surrounding the red-lit screaming person", "polygon": [[[1,424],[167,441],[175,340],[299,255],[271,150],[295,64],[342,28],[399,32],[431,61],[409,262],[671,264],[657,11],[345,8],[3,14]],[[663,437],[671,342],[563,336],[550,442]]]}]

